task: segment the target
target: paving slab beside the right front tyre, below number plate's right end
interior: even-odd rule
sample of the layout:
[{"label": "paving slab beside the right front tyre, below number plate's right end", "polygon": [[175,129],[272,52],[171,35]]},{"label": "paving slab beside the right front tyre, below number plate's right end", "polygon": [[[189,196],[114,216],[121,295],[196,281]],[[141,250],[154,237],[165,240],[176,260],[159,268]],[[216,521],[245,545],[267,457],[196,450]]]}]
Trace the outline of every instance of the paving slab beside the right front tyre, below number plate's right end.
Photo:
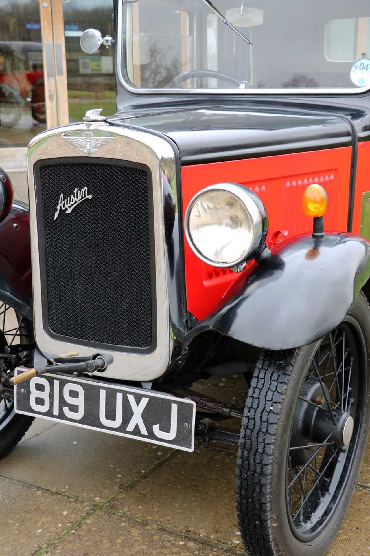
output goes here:
[{"label": "paving slab beside the right front tyre, below number plate's right end", "polygon": [[219,542],[237,545],[234,454],[198,447],[179,453],[110,507]]}]

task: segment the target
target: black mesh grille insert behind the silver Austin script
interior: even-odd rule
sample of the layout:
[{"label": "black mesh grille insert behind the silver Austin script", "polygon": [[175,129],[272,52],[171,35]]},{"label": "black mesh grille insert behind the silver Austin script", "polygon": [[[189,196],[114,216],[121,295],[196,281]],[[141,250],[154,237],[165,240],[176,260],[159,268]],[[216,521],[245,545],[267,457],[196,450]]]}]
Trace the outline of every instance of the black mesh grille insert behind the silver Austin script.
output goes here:
[{"label": "black mesh grille insert behind the silver Austin script", "polygon": [[[89,160],[41,166],[39,177],[35,172],[47,319],[57,335],[148,348],[154,295],[151,177],[144,167],[124,164]],[[76,187],[87,187],[92,197],[69,213],[61,209],[54,220],[61,194],[65,200]]]}]

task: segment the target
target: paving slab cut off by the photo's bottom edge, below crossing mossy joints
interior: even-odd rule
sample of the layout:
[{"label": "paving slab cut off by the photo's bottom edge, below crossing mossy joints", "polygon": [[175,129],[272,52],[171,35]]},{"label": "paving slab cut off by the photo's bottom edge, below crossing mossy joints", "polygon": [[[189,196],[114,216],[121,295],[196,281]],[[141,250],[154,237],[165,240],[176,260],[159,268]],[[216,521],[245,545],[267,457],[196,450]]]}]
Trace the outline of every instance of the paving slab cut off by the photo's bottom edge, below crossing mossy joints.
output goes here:
[{"label": "paving slab cut off by the photo's bottom edge, below crossing mossy joints", "polygon": [[209,547],[154,524],[100,511],[88,518],[74,533],[69,533],[49,548],[45,556],[218,556],[226,553],[229,551],[226,552],[221,547]]}]

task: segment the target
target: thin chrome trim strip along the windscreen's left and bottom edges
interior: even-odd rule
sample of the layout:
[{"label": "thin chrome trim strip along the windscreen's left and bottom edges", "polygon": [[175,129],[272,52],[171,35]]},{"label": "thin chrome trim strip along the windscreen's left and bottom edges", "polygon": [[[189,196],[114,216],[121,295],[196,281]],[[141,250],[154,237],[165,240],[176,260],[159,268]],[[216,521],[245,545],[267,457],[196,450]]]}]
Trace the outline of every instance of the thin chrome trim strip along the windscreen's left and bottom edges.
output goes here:
[{"label": "thin chrome trim strip along the windscreen's left and bottom edges", "polygon": [[125,80],[123,75],[123,47],[124,38],[126,33],[123,29],[123,4],[124,0],[118,0],[117,8],[117,35],[116,41],[116,67],[118,80],[122,87],[135,95],[359,95],[370,91],[369,87],[354,88],[271,88],[271,89],[144,89],[135,87],[132,83]]}]

